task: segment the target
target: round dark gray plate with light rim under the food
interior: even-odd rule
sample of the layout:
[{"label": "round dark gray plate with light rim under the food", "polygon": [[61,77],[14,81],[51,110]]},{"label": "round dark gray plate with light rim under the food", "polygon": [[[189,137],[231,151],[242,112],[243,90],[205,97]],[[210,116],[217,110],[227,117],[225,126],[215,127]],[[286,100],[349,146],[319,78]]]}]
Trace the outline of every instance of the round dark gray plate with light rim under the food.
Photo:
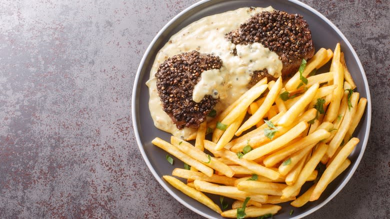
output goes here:
[{"label": "round dark gray plate with light rim under the food", "polygon": [[[160,131],[154,127],[148,109],[148,89],[145,85],[149,77],[150,67],[154,60],[156,52],[168,41],[169,37],[189,23],[198,20],[204,16],[224,11],[236,9],[245,6],[260,6],[266,7],[271,5],[278,10],[284,10],[289,13],[299,13],[309,24],[312,33],[312,40],[316,49],[320,47],[334,48],[337,42],[341,44],[341,50],[345,54],[346,63],[353,79],[356,82],[357,91],[361,97],[367,98],[367,107],[363,118],[356,128],[354,136],[360,139],[355,150],[350,154],[349,159],[351,165],[332,183],[328,185],[321,197],[313,202],[308,202],[300,208],[295,208],[288,203],[281,204],[282,209],[273,218],[290,218],[288,212],[293,209],[293,218],[300,218],[317,210],[331,198],[333,198],[344,185],[348,182],[353,172],[355,171],[366,146],[368,133],[371,121],[371,101],[367,79],[364,74],[363,67],[353,50],[352,46],[345,36],[332,24],[326,17],[318,11],[296,0],[203,0],[187,9],[180,12],[172,20],[170,20],[154,37],[142,57],[141,63],[135,77],[133,93],[132,93],[132,121],[136,140],[150,171],[153,173],[157,181],[162,187],[167,190],[176,200],[195,211],[196,213],[208,218],[222,218],[219,214],[193,200],[192,198],[181,193],[177,189],[170,186],[167,182],[161,179],[162,175],[171,174],[173,168],[183,167],[183,163],[175,158],[174,165],[170,165],[165,160],[166,152],[160,148],[153,146],[150,141],[159,136],[162,139],[169,140],[170,134]],[[306,183],[305,186],[310,186]],[[305,189],[302,189],[304,191]],[[210,197],[219,203],[216,195]],[[341,210],[341,209],[340,209]]]}]

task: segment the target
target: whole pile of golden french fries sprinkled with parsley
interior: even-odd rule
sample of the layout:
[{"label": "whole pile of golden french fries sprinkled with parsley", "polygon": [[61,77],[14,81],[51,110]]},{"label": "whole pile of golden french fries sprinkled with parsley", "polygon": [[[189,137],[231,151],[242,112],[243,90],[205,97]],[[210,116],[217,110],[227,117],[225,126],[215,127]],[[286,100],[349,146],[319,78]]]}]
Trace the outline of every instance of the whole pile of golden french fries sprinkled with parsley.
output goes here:
[{"label": "whole pile of golden french fries sprinkled with parsley", "polygon": [[[312,75],[329,60],[329,72]],[[321,48],[287,81],[263,78],[203,122],[194,145],[174,136],[170,143],[154,138],[154,145],[191,166],[172,171],[186,183],[163,178],[224,217],[275,214],[281,209],[277,203],[300,207],[317,200],[351,163],[347,157],[359,142],[351,135],[367,100],[355,87],[339,43],[334,51]],[[213,129],[211,141],[205,139],[207,127]],[[322,175],[319,163],[326,166]],[[303,192],[307,181],[312,186]],[[222,211],[203,192],[235,199],[232,209]]]}]

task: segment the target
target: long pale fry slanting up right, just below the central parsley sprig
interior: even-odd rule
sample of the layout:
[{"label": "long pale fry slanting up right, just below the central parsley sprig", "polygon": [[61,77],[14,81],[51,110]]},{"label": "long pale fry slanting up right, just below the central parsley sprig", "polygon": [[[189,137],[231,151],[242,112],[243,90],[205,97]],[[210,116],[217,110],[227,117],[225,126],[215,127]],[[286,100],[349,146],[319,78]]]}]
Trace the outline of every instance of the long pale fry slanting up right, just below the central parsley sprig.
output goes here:
[{"label": "long pale fry slanting up right, just below the central parsley sprig", "polygon": [[284,146],[292,139],[297,137],[302,131],[307,128],[307,126],[307,122],[301,121],[284,134],[280,135],[276,139],[273,139],[271,142],[249,151],[248,153],[243,155],[243,158],[253,160],[276,149],[279,149],[280,147]]}]

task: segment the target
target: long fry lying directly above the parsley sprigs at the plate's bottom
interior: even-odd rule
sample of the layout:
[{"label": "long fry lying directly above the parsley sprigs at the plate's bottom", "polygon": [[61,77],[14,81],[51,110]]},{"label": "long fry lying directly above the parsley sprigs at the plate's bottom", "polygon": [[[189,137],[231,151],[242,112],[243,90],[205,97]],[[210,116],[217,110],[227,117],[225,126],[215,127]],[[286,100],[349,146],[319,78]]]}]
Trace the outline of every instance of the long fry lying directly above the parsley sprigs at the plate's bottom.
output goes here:
[{"label": "long fry lying directly above the parsley sprigs at the plate's bottom", "polygon": [[199,179],[195,179],[193,181],[195,188],[199,191],[223,195],[230,198],[244,200],[246,197],[250,197],[251,200],[258,202],[265,202],[268,198],[268,195],[264,194],[254,194],[251,192],[238,190],[235,186],[227,186],[227,185],[218,185],[206,181],[202,181]]}]

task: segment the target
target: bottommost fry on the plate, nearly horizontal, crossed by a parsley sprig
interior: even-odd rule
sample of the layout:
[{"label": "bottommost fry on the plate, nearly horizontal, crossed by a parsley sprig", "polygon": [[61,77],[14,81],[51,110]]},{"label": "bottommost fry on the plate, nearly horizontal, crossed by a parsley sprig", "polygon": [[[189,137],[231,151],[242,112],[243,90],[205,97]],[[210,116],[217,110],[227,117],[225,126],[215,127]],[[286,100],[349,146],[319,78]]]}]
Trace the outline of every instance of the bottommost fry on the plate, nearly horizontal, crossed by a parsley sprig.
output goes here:
[{"label": "bottommost fry on the plate, nearly horizontal, crossed by a parsley sprig", "polygon": [[[280,209],[281,206],[279,205],[263,204],[261,207],[245,207],[245,214],[246,217],[258,217],[267,213],[276,214]],[[237,218],[237,209],[223,211],[220,215],[228,218]]]}]

